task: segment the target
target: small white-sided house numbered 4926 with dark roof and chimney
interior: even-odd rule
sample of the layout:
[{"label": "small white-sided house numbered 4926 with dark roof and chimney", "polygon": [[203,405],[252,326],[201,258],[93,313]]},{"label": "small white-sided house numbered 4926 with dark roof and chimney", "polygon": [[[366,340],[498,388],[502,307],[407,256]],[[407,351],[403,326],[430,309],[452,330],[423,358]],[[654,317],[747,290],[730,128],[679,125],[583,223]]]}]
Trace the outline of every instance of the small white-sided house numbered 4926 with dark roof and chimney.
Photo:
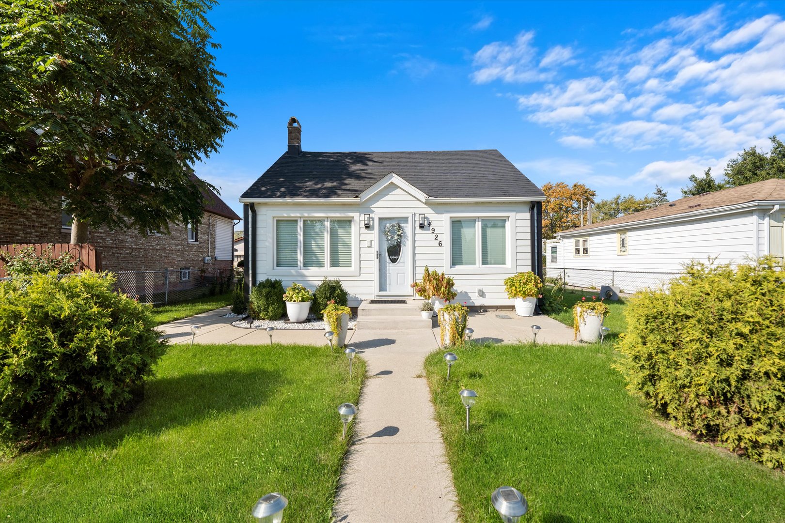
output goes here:
[{"label": "small white-sided house numbered 4926 with dark roof and chimney", "polygon": [[338,278],[356,306],[414,297],[428,266],[459,302],[509,305],[505,278],[542,275],[545,195],[498,151],[308,152],[287,127],[287,152],[240,197],[249,284]]}]

